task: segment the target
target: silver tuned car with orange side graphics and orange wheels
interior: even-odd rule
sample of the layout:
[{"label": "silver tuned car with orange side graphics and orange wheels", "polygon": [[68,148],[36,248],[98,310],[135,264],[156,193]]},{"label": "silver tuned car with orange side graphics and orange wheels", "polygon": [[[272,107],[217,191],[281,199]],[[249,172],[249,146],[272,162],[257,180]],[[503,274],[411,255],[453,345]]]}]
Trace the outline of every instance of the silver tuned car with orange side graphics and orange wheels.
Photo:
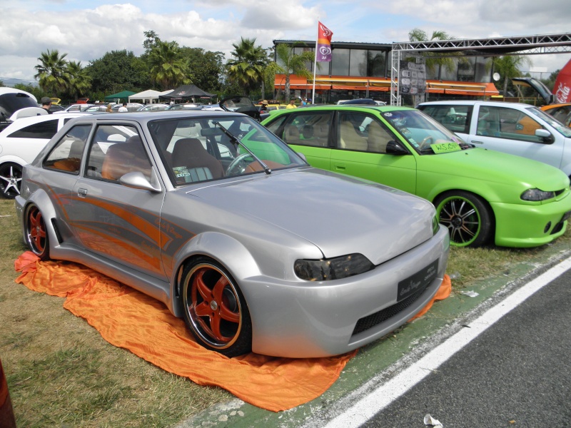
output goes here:
[{"label": "silver tuned car with orange side graphics and orange wheels", "polygon": [[70,121],[24,168],[24,240],[124,282],[223,353],[338,355],[403,325],[448,261],[435,208],[311,168],[241,113]]}]

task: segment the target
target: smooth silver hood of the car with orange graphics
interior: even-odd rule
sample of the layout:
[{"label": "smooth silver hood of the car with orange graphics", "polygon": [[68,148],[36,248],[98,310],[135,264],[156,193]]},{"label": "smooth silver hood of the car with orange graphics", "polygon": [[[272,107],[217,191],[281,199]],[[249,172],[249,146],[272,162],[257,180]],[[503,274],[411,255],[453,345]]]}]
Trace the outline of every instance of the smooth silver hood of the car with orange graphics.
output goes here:
[{"label": "smooth silver hood of the car with orange graphics", "polygon": [[295,168],[213,183],[188,194],[255,220],[258,228],[272,225],[274,234],[277,227],[308,240],[325,258],[361,253],[378,265],[433,236],[431,203],[364,183],[368,185],[325,170]]}]

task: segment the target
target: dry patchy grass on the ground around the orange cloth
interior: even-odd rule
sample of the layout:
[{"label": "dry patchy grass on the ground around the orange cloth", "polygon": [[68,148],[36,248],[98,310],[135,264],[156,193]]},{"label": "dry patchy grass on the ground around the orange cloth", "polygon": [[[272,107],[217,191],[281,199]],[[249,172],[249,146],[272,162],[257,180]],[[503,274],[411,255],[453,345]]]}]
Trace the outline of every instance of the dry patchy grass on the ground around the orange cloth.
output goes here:
[{"label": "dry patchy grass on the ground around the orange cloth", "polygon": [[[18,427],[172,427],[233,397],[201,387],[114,347],[63,308],[61,297],[14,282],[26,248],[14,202],[0,200],[0,359]],[[571,233],[560,238],[571,244]],[[453,248],[453,288],[501,275],[544,248]]]}]

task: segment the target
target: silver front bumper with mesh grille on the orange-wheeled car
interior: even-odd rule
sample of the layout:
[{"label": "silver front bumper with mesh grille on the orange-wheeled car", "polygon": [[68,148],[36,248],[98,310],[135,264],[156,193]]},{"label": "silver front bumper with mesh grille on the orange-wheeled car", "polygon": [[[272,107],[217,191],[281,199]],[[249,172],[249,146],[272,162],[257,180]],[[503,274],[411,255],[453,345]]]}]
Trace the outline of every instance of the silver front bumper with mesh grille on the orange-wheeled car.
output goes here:
[{"label": "silver front bumper with mesh grille on the orange-wheeled car", "polygon": [[[343,280],[281,282],[242,280],[253,323],[253,352],[281,357],[325,357],[377,340],[410,320],[438,291],[448,263],[448,231],[374,270]],[[395,305],[398,282],[438,260],[438,275],[415,302],[378,325],[353,336],[357,321]]]}]

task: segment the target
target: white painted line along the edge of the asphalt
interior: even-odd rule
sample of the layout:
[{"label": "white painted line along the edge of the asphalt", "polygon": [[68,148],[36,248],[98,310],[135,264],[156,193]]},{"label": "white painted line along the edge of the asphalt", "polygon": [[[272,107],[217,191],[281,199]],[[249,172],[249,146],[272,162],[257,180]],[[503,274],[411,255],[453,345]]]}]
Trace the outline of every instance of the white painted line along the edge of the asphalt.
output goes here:
[{"label": "white painted line along the edge of the asphalt", "polygon": [[517,307],[517,305],[524,302],[527,297],[530,297],[542,287],[545,287],[545,285],[555,280],[555,278],[570,268],[571,258],[567,258],[534,280],[527,282],[526,285],[523,285],[520,289],[497,303],[497,305],[487,310],[487,312],[473,322],[470,322],[471,328],[463,328],[455,333],[455,335],[452,335],[448,340],[445,340],[445,342],[438,345],[438,347],[435,347],[413,365],[410,365],[410,367],[403,370],[403,372],[400,372],[388,382],[380,385],[380,387],[374,389],[373,392],[370,392],[370,394],[353,404],[353,406],[338,415],[338,417],[332,419],[325,427],[350,428],[359,427],[361,424],[364,424],[395,399],[405,394],[408,389],[418,384],[418,382],[428,376],[432,370],[440,367],[440,365],[450,359],[450,357],[465,347],[465,345],[468,345],[468,343],[487,330],[487,328],[493,325],[497,320],[500,320],[500,318]]}]

